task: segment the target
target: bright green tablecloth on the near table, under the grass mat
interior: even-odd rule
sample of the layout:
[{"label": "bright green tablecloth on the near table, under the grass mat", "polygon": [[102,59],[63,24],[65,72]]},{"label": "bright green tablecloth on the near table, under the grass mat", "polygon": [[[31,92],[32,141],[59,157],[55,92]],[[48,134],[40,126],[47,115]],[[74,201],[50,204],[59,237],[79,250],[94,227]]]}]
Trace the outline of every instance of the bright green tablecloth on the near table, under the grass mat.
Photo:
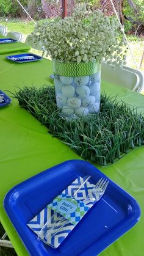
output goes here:
[{"label": "bright green tablecloth on the near table, under the grass mat", "polygon": [[[1,86],[7,95],[16,87],[41,86],[49,84],[52,73],[51,62],[43,59],[26,64],[13,64],[1,56]],[[107,94],[117,95],[123,101],[138,105],[144,113],[144,97],[127,89],[107,84],[102,81],[102,90]],[[15,229],[5,214],[2,205],[4,196],[10,188],[38,174],[51,166],[68,159],[79,159],[58,139],[48,134],[45,126],[41,125],[29,112],[20,108],[18,101],[0,109],[0,221],[18,255],[28,255],[26,249],[16,235]],[[143,243],[143,198],[144,198],[144,147],[135,148],[128,155],[107,167],[98,167],[115,183],[128,191],[139,202],[142,217],[134,228],[108,247],[101,256],[141,256],[144,251]],[[118,199],[120,200],[120,199]],[[91,255],[88,255],[91,256]]]}]

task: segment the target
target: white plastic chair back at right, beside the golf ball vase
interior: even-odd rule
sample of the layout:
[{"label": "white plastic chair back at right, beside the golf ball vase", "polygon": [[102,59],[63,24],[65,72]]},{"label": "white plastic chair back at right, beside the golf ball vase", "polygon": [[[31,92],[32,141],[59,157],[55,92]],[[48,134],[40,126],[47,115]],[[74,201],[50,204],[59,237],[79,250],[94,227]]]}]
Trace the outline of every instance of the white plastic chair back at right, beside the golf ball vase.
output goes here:
[{"label": "white plastic chair back at right, beside the golf ball vase", "polygon": [[134,92],[140,93],[144,89],[144,74],[127,66],[113,68],[112,65],[102,62],[101,79],[117,86],[126,87]]}]

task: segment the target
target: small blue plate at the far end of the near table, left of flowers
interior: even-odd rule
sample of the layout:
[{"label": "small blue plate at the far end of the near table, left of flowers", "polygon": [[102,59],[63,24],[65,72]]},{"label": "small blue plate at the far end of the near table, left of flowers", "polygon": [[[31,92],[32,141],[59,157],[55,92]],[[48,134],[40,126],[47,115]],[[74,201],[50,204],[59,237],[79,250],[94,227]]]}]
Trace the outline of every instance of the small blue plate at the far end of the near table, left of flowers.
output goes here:
[{"label": "small blue plate at the far end of the near table, left of flowers", "polygon": [[32,62],[32,61],[37,61],[42,59],[42,57],[32,53],[10,55],[10,56],[6,56],[6,58],[17,63]]}]

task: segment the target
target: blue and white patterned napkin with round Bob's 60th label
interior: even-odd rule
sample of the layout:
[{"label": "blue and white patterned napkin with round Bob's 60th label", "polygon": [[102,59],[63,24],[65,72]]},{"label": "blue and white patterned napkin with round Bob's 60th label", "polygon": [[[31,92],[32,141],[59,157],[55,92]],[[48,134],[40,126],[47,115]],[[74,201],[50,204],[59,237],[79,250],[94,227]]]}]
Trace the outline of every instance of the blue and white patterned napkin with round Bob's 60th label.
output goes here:
[{"label": "blue and white patterned napkin with round Bob's 60th label", "polygon": [[[59,196],[52,200],[49,205],[27,223],[28,227],[37,235],[42,232],[40,239],[46,244],[49,244],[49,246],[54,248],[59,247],[71,230],[73,230],[77,223],[82,219],[84,214],[93,206],[94,203],[90,203],[87,207],[82,201],[88,194],[92,194],[92,189],[95,185],[86,181],[84,186],[79,189],[83,183],[84,178],[76,178],[71,185],[63,190]],[[73,197],[74,192],[76,192],[77,189],[79,189],[79,191]],[[60,201],[62,202],[61,204]],[[69,208],[72,208],[74,207],[74,201],[76,204],[75,211],[65,213],[67,210],[67,202]],[[57,205],[59,205],[59,212],[61,214],[57,211]],[[43,229],[44,226],[45,228]]]}]

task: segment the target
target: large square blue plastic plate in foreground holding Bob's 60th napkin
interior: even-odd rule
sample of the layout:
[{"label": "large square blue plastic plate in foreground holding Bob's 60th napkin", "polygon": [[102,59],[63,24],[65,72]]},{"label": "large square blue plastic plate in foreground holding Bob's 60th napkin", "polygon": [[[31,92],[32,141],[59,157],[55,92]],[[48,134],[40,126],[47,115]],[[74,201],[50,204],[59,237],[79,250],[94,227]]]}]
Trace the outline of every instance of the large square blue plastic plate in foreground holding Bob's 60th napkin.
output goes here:
[{"label": "large square blue plastic plate in foreground holding Bob's 60th napkin", "polygon": [[106,177],[85,161],[71,160],[54,166],[10,189],[4,208],[30,255],[35,256],[96,256],[113,241],[131,229],[140,218],[135,199],[110,180],[103,198],[57,249],[37,240],[27,227],[29,222],[77,176],[91,175],[95,184]]}]

